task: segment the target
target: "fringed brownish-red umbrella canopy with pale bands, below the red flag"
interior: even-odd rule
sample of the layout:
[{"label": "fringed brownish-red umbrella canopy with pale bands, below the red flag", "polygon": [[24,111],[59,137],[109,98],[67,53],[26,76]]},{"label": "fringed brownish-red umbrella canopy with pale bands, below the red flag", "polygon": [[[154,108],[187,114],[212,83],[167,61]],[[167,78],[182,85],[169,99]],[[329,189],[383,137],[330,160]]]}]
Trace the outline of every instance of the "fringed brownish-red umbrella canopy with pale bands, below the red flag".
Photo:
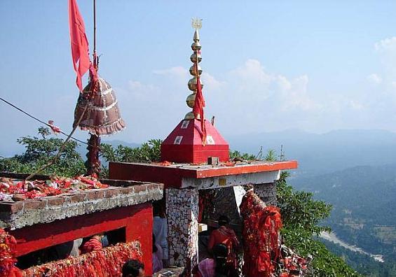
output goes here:
[{"label": "fringed brownish-red umbrella canopy with pale bands, below the red flag", "polygon": [[76,109],[74,110],[73,127],[76,126],[88,104],[88,108],[78,124],[78,127],[82,130],[96,136],[114,134],[123,130],[125,122],[121,118],[116,94],[109,83],[103,78],[98,78],[98,91],[94,94],[93,99],[88,97],[90,89],[89,83],[78,97]]}]

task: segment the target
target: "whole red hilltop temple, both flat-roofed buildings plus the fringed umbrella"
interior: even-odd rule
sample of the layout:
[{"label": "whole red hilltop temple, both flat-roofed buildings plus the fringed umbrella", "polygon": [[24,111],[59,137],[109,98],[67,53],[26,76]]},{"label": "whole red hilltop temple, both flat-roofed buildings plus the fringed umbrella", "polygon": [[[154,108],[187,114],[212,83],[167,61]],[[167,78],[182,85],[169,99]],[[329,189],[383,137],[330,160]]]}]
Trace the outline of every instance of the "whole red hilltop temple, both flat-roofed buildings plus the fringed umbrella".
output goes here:
[{"label": "whole red hilltop temple, both flat-roofed buildings plus the fringed umbrella", "polygon": [[[163,276],[177,276],[175,272],[180,273],[183,269],[186,276],[190,276],[198,262],[209,257],[202,241],[207,239],[210,231],[219,227],[220,215],[231,219],[231,227],[238,236],[258,232],[253,227],[246,230],[252,222],[256,224],[254,220],[257,218],[249,218],[255,207],[259,208],[260,216],[266,216],[268,234],[261,235],[271,243],[264,245],[262,239],[253,241],[253,236],[245,237],[245,243],[251,243],[250,249],[263,244],[260,250],[268,257],[268,270],[262,271],[269,276],[273,270],[271,255],[279,253],[280,248],[276,228],[281,224],[275,216],[278,209],[274,207],[276,181],[280,171],[296,169],[298,164],[293,160],[230,159],[226,139],[214,127],[214,122],[206,120],[204,115],[203,83],[200,80],[203,72],[200,67],[201,26],[200,20],[193,20],[195,31],[190,57],[193,64],[189,70],[192,78],[187,83],[191,94],[186,98],[192,111],[184,118],[175,118],[178,122],[175,129],[170,130],[161,144],[161,161],[109,162],[109,179],[100,180],[83,176],[69,180],[36,175],[35,183],[29,183],[25,182],[27,176],[24,175],[1,174],[0,177],[9,178],[2,179],[1,186],[15,187],[15,191],[0,201],[0,227],[16,240],[11,254],[18,260],[22,276],[42,276],[42,272],[46,272],[46,276],[59,276],[55,273],[60,270],[67,271],[70,276],[79,276],[81,272],[99,270],[93,269],[93,264],[100,267],[103,276],[120,276],[123,262],[132,258],[141,260],[146,276],[151,276],[153,205],[162,206],[168,220],[169,256],[165,264],[169,264],[174,273],[166,269],[168,275],[164,273]],[[94,173],[94,176],[100,173],[100,135],[125,127],[114,91],[105,80],[95,78],[91,76],[90,85],[78,99],[74,121],[75,126],[91,133],[88,173]],[[88,114],[85,113],[87,107],[90,109]],[[71,190],[73,185],[75,188]],[[48,193],[37,196],[37,191],[43,188]],[[257,224],[264,222],[259,221]],[[6,238],[3,232],[0,232],[0,244],[1,238]],[[41,265],[30,263],[40,251],[78,239],[86,241],[97,234],[107,234],[111,246],[80,257],[67,257]],[[0,254],[6,248],[0,245]],[[278,250],[271,252],[275,248]],[[24,264],[24,261],[28,262]],[[88,268],[87,264],[92,267]],[[252,264],[257,262],[252,260]],[[5,266],[0,261],[0,270],[2,267]],[[254,272],[256,269],[250,270]]]}]

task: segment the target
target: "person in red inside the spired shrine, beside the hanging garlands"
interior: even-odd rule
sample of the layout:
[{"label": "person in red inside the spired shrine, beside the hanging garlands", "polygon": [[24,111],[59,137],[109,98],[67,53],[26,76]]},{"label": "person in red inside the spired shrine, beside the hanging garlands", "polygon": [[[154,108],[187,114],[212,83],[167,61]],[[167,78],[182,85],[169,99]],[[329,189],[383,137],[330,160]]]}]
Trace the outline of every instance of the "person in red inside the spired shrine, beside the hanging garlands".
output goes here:
[{"label": "person in red inside the spired shrine, beside the hanging garlands", "polygon": [[207,250],[212,253],[213,246],[223,243],[228,248],[227,263],[234,269],[237,268],[237,252],[240,250],[238,238],[228,226],[230,220],[226,215],[219,217],[219,228],[212,231],[210,234],[209,242],[207,243]]}]

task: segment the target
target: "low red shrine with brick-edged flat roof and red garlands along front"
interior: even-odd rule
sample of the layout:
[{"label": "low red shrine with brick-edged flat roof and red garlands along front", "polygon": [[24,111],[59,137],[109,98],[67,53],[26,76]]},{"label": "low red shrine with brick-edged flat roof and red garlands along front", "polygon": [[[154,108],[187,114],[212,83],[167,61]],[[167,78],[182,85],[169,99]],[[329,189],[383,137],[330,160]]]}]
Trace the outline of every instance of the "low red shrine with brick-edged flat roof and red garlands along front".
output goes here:
[{"label": "low red shrine with brick-edged flat roof and red garlands along front", "polygon": [[[26,177],[27,174],[1,173],[0,186],[13,186],[13,182],[15,187],[19,187],[25,184]],[[64,189],[60,194],[36,197],[32,194],[36,190],[22,188],[20,192],[25,194],[13,194],[13,199],[0,201],[0,228],[15,238],[12,255],[18,261],[17,266],[22,265],[22,276],[42,276],[43,272],[47,272],[46,276],[60,276],[56,272],[66,265],[70,267],[68,272],[75,271],[68,276],[80,276],[89,270],[83,269],[83,264],[95,263],[98,257],[114,259],[116,263],[103,265],[103,271],[107,274],[112,272],[107,276],[117,276],[117,272],[121,274],[121,262],[132,258],[142,260],[146,274],[151,274],[151,201],[163,198],[162,184],[85,177],[78,180],[50,179],[48,176],[35,178],[27,185],[39,188],[41,184],[50,182],[57,183],[59,187],[62,185]],[[76,181],[80,182],[76,189],[67,187],[67,182]],[[27,198],[17,199],[18,195]],[[68,247],[74,240],[102,233],[107,234],[111,246],[96,254],[64,257],[67,259],[31,267],[41,253],[48,253],[58,246]],[[42,262],[43,258],[39,259]]]}]

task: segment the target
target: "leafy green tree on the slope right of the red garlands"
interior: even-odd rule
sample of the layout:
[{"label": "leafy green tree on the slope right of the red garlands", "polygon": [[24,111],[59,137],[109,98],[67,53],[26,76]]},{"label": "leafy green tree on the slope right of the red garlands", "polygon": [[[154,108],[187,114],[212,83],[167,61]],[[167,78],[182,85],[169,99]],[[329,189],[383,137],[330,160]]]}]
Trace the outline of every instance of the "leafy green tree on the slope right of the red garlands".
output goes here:
[{"label": "leafy green tree on the slope right of the red garlands", "polygon": [[284,243],[299,255],[313,257],[310,276],[360,276],[315,239],[320,232],[329,231],[329,227],[320,226],[320,221],[330,215],[332,206],[324,201],[314,200],[312,193],[294,191],[293,187],[287,184],[288,176],[289,173],[282,172],[277,183],[277,201],[282,214],[281,234]]}]

